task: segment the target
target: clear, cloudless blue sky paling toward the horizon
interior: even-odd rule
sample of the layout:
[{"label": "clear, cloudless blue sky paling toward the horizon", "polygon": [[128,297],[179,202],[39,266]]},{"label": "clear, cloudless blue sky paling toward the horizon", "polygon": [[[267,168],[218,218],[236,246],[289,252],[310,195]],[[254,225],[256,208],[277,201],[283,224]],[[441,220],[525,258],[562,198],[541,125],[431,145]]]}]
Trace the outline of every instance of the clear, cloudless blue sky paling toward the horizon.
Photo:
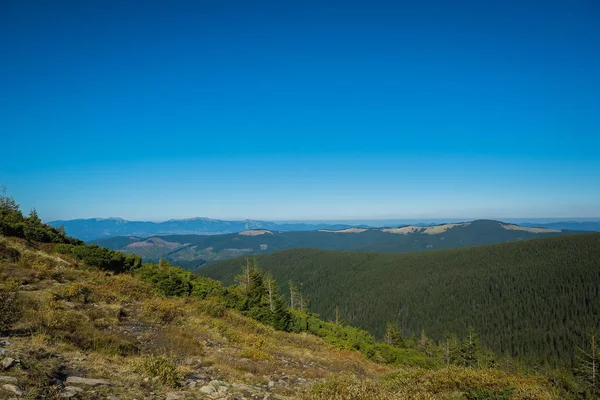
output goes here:
[{"label": "clear, cloudless blue sky paling toward the horizon", "polygon": [[600,216],[600,3],[0,0],[45,220]]}]

